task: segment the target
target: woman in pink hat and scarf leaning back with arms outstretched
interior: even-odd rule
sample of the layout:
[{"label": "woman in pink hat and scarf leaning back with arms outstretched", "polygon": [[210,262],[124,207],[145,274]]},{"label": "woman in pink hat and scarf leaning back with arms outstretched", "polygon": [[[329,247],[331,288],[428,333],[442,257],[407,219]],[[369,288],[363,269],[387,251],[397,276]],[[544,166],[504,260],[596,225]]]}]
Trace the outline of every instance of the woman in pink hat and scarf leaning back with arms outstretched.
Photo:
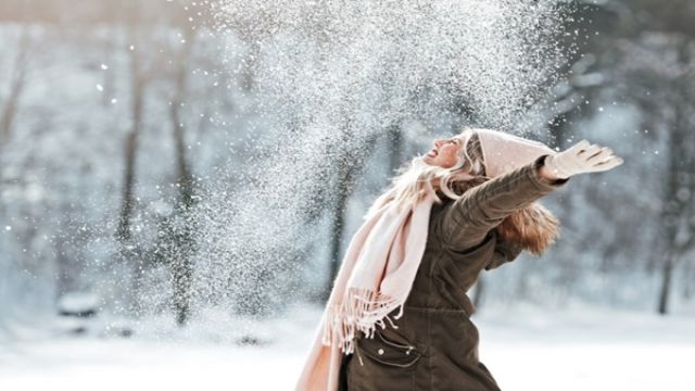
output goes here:
[{"label": "woman in pink hat and scarf leaning back with arms outstretched", "polygon": [[555,153],[488,129],[434,141],[352,238],[298,390],[498,390],[478,360],[466,292],[557,220],[536,200],[572,175],[622,163],[582,140]]}]

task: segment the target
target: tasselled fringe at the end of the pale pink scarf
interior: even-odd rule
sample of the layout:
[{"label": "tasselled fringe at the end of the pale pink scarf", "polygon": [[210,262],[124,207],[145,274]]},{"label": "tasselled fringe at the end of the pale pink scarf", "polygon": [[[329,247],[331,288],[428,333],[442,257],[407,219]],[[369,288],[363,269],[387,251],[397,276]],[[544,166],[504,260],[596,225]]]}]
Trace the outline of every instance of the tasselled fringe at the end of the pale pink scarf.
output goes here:
[{"label": "tasselled fringe at the end of the pale pink scarf", "polygon": [[321,342],[327,346],[338,343],[344,354],[353,353],[357,331],[374,338],[377,326],[384,329],[387,321],[399,328],[390,315],[396,308],[400,311],[393,319],[403,315],[402,302],[370,289],[349,288],[342,304],[328,310]]}]

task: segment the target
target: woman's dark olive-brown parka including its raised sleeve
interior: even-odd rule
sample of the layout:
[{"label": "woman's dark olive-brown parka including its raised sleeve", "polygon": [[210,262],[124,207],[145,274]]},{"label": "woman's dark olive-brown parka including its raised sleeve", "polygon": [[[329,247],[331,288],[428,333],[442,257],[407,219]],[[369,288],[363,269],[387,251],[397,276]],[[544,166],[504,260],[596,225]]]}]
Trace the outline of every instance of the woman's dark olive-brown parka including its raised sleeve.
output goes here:
[{"label": "woman's dark olive-brown parka including its raised sleeve", "polygon": [[428,240],[397,329],[377,328],[344,356],[340,389],[500,390],[478,358],[479,333],[468,290],[483,270],[514,261],[521,248],[494,229],[514,211],[563,187],[539,168],[547,155],[432,206]]}]

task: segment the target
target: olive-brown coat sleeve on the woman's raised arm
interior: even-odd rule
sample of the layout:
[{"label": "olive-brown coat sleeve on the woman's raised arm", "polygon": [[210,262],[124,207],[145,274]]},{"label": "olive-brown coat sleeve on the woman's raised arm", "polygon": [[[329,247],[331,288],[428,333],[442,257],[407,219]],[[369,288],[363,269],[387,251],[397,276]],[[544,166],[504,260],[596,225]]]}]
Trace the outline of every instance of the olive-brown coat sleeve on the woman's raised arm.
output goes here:
[{"label": "olive-brown coat sleeve on the woman's raised arm", "polygon": [[539,175],[546,156],[470,188],[452,202],[443,211],[444,241],[456,250],[480,244],[488,232],[514,211],[563,187],[569,178],[548,181]]}]

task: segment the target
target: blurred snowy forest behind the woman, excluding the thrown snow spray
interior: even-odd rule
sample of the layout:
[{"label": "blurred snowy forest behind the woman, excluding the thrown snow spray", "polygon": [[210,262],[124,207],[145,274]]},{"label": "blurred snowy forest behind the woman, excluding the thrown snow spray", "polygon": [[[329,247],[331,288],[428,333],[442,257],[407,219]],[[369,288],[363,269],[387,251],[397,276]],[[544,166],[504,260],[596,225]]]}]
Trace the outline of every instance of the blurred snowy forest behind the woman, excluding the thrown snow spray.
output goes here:
[{"label": "blurred snowy forest behind the woman, excluding the thrown snow spray", "polygon": [[[205,306],[267,314],[320,302],[394,169],[434,136],[477,124],[462,97],[437,118],[387,126],[372,148],[327,165],[318,202],[300,209],[294,227],[311,235],[251,266],[249,254],[215,256],[206,249],[219,238],[206,224],[233,225],[235,215],[200,218],[220,205],[205,201],[233,204],[277,135],[254,100],[268,31],[220,25],[212,9],[0,4],[0,330],[55,313],[76,293],[97,298],[101,311],[170,314],[180,325]],[[485,274],[476,302],[692,307],[695,4],[578,1],[572,10],[569,36],[558,37],[569,63],[548,86],[552,104],[529,110],[545,118],[539,135],[548,144],[586,138],[626,164],[573,178],[545,200],[563,224],[557,245]],[[201,265],[211,262],[228,275],[207,278]]]}]

